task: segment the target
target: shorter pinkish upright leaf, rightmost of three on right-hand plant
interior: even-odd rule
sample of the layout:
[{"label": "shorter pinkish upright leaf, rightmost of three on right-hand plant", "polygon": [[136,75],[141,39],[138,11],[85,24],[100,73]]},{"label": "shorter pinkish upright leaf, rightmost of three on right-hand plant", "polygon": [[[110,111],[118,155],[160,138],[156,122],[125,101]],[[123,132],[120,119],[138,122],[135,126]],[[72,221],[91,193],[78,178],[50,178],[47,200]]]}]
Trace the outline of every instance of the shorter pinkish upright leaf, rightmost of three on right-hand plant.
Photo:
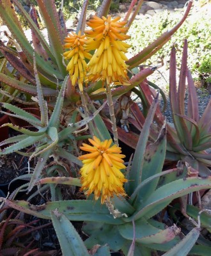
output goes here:
[{"label": "shorter pinkish upright leaf, rightmost of three on right-hand plant", "polygon": [[187,106],[187,116],[198,122],[199,120],[199,108],[198,108],[198,96],[196,94],[196,88],[191,76],[191,71],[187,70],[187,83],[189,88],[189,98]]}]

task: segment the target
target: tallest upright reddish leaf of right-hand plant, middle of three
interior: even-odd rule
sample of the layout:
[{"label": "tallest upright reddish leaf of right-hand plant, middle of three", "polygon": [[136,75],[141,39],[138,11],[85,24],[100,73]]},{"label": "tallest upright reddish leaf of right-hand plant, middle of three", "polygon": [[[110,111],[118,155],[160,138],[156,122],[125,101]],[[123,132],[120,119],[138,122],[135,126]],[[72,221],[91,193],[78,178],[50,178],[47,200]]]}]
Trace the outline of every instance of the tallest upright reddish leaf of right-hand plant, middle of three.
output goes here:
[{"label": "tallest upright reddish leaf of right-hand plant, middle of three", "polygon": [[187,40],[184,41],[184,49],[182,53],[182,63],[180,69],[180,80],[178,84],[178,114],[185,115],[185,79],[187,73]]}]

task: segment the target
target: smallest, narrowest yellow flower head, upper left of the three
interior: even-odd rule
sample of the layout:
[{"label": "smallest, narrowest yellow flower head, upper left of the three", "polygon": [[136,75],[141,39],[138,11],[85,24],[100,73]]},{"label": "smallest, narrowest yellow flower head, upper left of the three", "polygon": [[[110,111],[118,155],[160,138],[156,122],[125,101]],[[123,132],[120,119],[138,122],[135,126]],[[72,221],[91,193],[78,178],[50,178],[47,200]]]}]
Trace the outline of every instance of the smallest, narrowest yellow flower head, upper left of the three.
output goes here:
[{"label": "smallest, narrowest yellow flower head, upper left of the three", "polygon": [[65,59],[70,59],[70,62],[66,66],[66,70],[70,74],[70,79],[72,81],[72,85],[75,85],[77,82],[79,84],[79,89],[82,92],[82,83],[87,79],[87,64],[85,58],[90,60],[91,54],[84,49],[84,44],[86,42],[86,35],[81,35],[81,31],[79,31],[78,35],[74,32],[68,34],[65,37],[65,49],[70,49],[63,53]]}]

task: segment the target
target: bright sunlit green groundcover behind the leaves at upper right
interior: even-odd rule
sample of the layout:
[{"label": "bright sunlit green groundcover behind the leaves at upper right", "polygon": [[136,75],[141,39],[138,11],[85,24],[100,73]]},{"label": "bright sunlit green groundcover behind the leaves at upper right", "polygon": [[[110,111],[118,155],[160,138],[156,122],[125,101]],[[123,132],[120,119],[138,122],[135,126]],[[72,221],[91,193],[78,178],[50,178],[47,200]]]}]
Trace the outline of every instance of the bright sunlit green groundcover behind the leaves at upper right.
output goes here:
[{"label": "bright sunlit green groundcover behind the leaves at upper right", "polygon": [[[137,54],[162,33],[175,26],[181,16],[182,14],[178,12],[168,13],[165,11],[157,13],[152,19],[141,17],[140,20],[135,20],[130,28],[130,44],[133,45],[133,42],[136,42],[136,45],[130,48],[130,52]],[[171,37],[171,40],[147,60],[146,64],[152,65],[162,59],[168,61],[173,44],[178,52],[178,63],[180,63],[183,42],[186,38],[189,42],[188,65],[195,72],[193,77],[210,72],[208,69],[211,60],[210,26],[211,18],[208,15],[202,15],[201,12],[192,13],[192,16],[188,17],[183,26]]]}]

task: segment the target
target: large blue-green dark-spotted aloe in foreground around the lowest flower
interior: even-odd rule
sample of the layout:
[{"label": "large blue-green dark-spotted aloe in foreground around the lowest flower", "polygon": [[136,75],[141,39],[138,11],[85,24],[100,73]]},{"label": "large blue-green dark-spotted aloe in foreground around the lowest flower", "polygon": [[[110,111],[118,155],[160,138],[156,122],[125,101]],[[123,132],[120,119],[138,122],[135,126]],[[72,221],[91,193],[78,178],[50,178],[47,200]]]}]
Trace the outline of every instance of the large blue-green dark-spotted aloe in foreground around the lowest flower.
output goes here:
[{"label": "large blue-green dark-spotted aloe in foreground around the lowest flower", "polygon": [[[8,207],[33,214],[39,218],[52,219],[54,228],[58,236],[61,237],[60,243],[63,252],[68,248],[70,252],[73,252],[73,255],[78,255],[77,253],[88,255],[88,251],[82,245],[80,237],[75,235],[74,240],[72,240],[72,234],[75,233],[75,230],[69,221],[85,221],[83,232],[89,238],[84,243],[89,250],[95,244],[100,244],[100,246],[108,244],[110,250],[122,250],[125,255],[128,253],[130,253],[129,255],[142,255],[140,253],[150,255],[156,250],[168,252],[171,248],[174,248],[174,253],[180,255],[187,255],[190,250],[192,252],[197,250],[198,255],[204,255],[201,254],[204,251],[203,244],[198,241],[201,247],[194,245],[199,236],[199,227],[193,228],[190,235],[182,239],[179,236],[179,227],[176,225],[165,227],[162,222],[153,218],[162,209],[165,209],[173,199],[192,191],[210,188],[210,178],[188,177],[185,162],[180,163],[178,168],[162,172],[166,152],[166,125],[163,125],[157,140],[147,145],[150,125],[157,104],[156,98],[146,117],[134,159],[128,168],[130,169],[127,173],[129,182],[125,184],[128,198],[114,196],[111,199],[109,209],[105,205],[100,205],[100,200],[93,202],[91,198],[60,200],[37,206],[24,201],[2,198],[3,202]],[[58,177],[55,179],[49,177],[41,179],[38,183],[80,186],[80,181],[78,180],[77,184],[76,180],[77,178]],[[118,215],[115,215],[116,212]],[[189,209],[187,213],[192,218],[197,218],[197,214],[189,213]],[[208,216],[206,218],[201,217],[201,225],[208,225],[207,221],[210,221],[210,218]],[[67,228],[66,232],[64,228]],[[70,230],[72,231],[70,232]],[[68,245],[65,241],[69,241]],[[183,243],[190,243],[188,250],[184,252],[181,251],[181,244]],[[77,253],[74,254],[76,248]],[[105,255],[109,255],[109,252]]]}]

